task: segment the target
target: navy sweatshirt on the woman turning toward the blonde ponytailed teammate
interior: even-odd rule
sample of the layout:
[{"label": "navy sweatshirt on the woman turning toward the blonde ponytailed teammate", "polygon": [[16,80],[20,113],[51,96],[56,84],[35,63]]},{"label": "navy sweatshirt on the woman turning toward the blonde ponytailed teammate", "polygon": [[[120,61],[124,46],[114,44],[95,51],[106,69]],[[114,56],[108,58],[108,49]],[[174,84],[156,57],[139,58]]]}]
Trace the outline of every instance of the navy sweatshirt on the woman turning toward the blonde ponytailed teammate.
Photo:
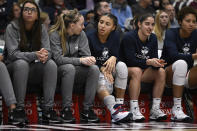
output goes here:
[{"label": "navy sweatshirt on the woman turning toward the blonde ponytailed teammate", "polygon": [[111,56],[119,57],[120,33],[113,31],[105,43],[101,43],[97,30],[87,32],[89,47],[92,56],[96,58],[96,64],[101,67]]}]

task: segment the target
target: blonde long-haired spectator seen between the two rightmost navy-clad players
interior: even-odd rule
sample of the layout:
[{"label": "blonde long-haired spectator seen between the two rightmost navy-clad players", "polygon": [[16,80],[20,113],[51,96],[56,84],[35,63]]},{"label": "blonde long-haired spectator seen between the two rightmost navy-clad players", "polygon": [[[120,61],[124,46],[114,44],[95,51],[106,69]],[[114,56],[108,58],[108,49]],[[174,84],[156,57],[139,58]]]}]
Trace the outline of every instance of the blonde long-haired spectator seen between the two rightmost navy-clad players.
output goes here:
[{"label": "blonde long-haired spectator seen between the two rightmost navy-clad players", "polygon": [[164,10],[160,10],[155,18],[155,27],[154,27],[154,33],[157,36],[157,42],[158,42],[158,57],[161,57],[161,53],[163,50],[163,43],[165,39],[165,32],[166,29],[170,27],[170,19]]}]

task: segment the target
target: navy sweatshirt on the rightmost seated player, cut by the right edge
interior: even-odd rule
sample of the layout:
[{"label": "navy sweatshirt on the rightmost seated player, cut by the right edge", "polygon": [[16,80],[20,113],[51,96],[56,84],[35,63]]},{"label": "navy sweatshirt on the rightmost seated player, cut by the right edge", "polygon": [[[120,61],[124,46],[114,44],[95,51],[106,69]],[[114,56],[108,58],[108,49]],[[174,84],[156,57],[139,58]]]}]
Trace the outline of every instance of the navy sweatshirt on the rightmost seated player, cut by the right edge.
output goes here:
[{"label": "navy sweatshirt on the rightmost seated player, cut by the right edge", "polygon": [[181,38],[180,28],[168,29],[164,40],[162,58],[168,65],[177,60],[185,60],[188,68],[193,66],[192,54],[196,53],[197,48],[197,30],[194,30],[188,38]]}]

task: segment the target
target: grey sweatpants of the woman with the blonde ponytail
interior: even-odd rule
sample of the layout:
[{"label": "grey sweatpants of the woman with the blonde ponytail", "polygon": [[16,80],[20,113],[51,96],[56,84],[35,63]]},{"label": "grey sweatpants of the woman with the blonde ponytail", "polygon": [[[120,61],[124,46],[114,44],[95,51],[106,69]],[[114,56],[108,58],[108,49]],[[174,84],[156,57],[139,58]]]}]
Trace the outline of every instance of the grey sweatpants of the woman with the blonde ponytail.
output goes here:
[{"label": "grey sweatpants of the woman with the blonde ponytail", "polygon": [[88,109],[93,105],[96,88],[98,86],[99,68],[93,66],[74,66],[65,64],[58,67],[58,75],[61,79],[62,107],[70,107],[72,104],[72,92],[74,81],[85,81],[85,97],[83,108]]}]

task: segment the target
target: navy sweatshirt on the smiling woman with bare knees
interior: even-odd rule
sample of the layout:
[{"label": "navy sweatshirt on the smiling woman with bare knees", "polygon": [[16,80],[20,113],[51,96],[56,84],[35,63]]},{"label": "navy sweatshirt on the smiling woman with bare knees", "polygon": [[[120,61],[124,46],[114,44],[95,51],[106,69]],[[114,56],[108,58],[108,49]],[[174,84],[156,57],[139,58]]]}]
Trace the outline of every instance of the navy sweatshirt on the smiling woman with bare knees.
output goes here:
[{"label": "navy sweatshirt on the smiling woman with bare knees", "polygon": [[147,41],[143,43],[139,39],[137,30],[128,32],[121,42],[121,60],[124,61],[128,67],[146,69],[149,67],[146,64],[147,59],[158,58],[157,45],[157,37],[153,33],[151,33]]}]

